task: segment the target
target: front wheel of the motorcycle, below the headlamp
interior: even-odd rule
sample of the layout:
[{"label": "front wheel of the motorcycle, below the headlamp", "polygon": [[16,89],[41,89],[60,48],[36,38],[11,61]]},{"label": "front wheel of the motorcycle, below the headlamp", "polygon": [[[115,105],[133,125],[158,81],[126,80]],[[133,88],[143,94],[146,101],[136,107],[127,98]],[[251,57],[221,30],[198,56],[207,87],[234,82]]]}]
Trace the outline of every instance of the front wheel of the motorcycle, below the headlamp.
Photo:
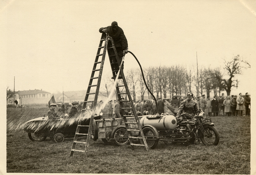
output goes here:
[{"label": "front wheel of the motorcycle, below the headlamp", "polygon": [[214,126],[204,126],[205,129],[205,137],[201,133],[201,141],[205,145],[218,145],[220,136],[218,130]]}]

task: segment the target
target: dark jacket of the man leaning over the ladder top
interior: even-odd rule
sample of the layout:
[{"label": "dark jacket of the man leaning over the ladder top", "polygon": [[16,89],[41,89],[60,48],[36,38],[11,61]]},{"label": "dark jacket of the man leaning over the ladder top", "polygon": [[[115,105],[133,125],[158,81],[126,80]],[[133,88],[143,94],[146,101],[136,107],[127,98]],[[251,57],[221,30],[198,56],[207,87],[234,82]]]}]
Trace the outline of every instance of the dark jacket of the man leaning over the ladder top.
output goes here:
[{"label": "dark jacket of the man leaning over the ladder top", "polygon": [[109,36],[114,40],[115,47],[121,47],[123,50],[128,49],[128,42],[124,35],[124,31],[118,26],[117,30],[114,32],[111,26],[100,28],[99,32],[102,33],[103,29],[109,30]]}]

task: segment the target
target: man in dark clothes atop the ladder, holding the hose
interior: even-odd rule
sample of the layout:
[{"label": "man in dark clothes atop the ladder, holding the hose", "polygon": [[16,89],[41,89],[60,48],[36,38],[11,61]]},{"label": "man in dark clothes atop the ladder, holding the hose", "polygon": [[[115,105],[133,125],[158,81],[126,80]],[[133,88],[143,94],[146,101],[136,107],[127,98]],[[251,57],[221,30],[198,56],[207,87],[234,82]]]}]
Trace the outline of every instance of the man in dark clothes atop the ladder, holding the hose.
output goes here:
[{"label": "man in dark clothes atop the ladder, holding the hose", "polygon": [[[116,21],[113,21],[111,23],[111,26],[102,27],[99,30],[100,33],[108,33],[109,36],[111,36],[114,40],[116,51],[118,53],[118,57],[120,62],[122,61],[122,57],[124,53],[128,53],[128,42],[124,35],[124,31],[118,26]],[[108,47],[110,46],[110,41],[108,43]],[[114,55],[114,53],[110,53],[110,49],[108,49],[108,53],[110,55]],[[115,59],[115,58],[114,58]],[[116,62],[116,60],[113,59],[113,62]],[[114,69],[118,70],[119,66],[118,64],[113,64]],[[122,63],[122,69],[124,69],[124,62]],[[121,79],[122,76],[120,75],[118,79]],[[115,77],[112,77],[112,79],[115,79]]]}]

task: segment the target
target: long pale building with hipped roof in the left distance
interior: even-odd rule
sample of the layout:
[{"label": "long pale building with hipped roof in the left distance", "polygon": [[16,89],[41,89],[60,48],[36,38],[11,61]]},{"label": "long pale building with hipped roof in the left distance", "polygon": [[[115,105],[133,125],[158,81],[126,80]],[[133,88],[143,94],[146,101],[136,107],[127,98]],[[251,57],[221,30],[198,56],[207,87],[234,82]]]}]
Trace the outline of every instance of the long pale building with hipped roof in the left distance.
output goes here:
[{"label": "long pale building with hipped roof in the left distance", "polygon": [[21,99],[22,104],[48,104],[52,97],[51,93],[45,92],[42,89],[24,90],[15,92],[15,94],[16,93],[19,96],[18,98]]}]

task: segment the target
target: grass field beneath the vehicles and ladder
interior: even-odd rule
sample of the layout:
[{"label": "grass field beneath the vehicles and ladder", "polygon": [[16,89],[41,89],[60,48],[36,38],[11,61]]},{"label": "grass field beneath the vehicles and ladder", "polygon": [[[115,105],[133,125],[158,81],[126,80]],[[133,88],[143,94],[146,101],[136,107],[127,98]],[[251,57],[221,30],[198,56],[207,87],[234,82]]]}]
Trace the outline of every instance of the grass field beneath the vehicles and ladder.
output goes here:
[{"label": "grass field beneath the vehicles and ladder", "polygon": [[69,157],[73,139],[55,143],[29,140],[17,123],[43,116],[48,109],[7,109],[7,172],[16,173],[135,173],[250,174],[250,117],[212,117],[220,134],[217,146],[202,143],[165,145],[145,151],[91,141],[87,158]]}]

